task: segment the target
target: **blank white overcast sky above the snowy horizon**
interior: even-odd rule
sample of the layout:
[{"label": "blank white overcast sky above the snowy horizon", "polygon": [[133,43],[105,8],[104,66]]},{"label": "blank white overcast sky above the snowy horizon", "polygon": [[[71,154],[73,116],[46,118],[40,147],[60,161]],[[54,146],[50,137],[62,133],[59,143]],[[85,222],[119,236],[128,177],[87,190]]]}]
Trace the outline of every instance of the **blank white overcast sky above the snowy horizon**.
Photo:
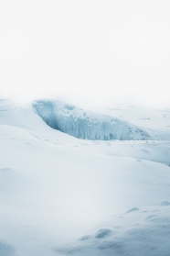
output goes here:
[{"label": "blank white overcast sky above the snowy horizon", "polygon": [[0,0],[0,95],[170,102],[170,0]]}]

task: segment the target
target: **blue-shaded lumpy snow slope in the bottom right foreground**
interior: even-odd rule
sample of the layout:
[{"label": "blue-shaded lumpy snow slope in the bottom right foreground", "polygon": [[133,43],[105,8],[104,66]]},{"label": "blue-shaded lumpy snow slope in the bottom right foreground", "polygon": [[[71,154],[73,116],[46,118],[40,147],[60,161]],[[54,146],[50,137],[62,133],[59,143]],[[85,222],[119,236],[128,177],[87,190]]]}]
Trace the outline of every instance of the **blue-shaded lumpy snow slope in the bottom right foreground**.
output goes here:
[{"label": "blue-shaded lumpy snow slope in the bottom right foreground", "polygon": [[168,256],[169,205],[129,210],[112,217],[77,242],[55,249],[61,255],[81,256]]}]

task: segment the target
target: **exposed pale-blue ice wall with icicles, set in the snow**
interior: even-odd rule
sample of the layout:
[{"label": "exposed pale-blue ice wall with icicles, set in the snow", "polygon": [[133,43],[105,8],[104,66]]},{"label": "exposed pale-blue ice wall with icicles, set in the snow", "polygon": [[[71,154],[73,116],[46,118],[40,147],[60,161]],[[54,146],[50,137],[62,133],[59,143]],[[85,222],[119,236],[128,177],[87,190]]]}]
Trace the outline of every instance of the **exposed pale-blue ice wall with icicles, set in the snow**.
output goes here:
[{"label": "exposed pale-blue ice wall with icicles, set in the snow", "polygon": [[152,137],[148,130],[120,118],[71,106],[58,100],[38,100],[33,106],[49,127],[79,139],[147,140]]}]

